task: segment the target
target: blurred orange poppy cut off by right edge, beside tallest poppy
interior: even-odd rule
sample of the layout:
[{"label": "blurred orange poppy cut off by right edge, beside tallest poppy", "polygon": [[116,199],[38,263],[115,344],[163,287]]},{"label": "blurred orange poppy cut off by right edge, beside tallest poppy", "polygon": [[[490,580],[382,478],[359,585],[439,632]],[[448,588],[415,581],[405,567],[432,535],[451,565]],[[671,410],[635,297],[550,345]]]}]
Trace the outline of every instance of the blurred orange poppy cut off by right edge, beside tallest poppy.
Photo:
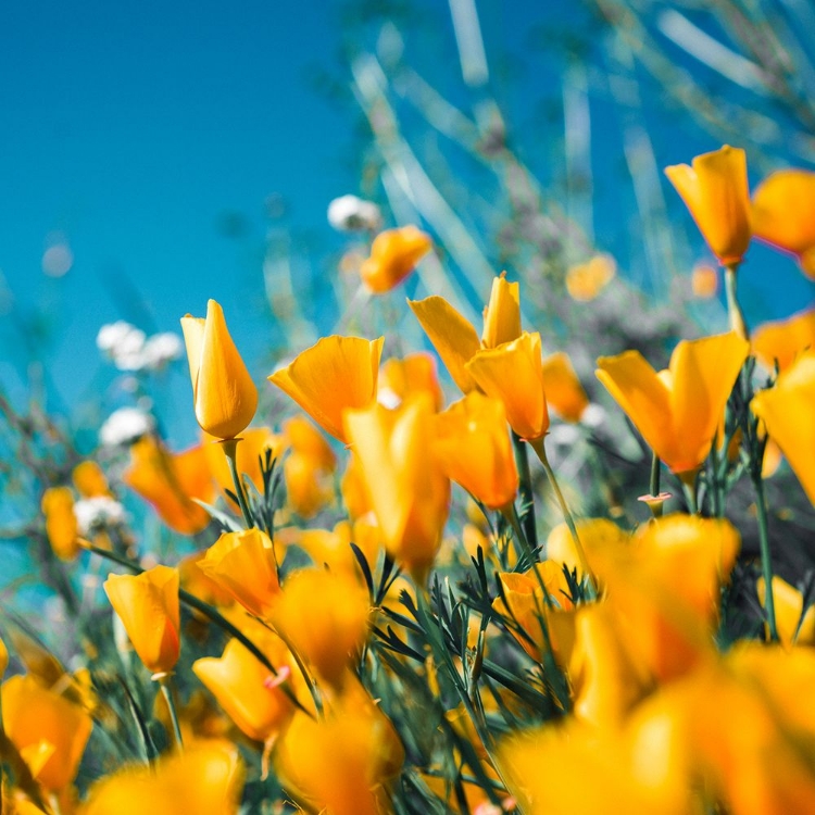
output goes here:
[{"label": "blurred orange poppy cut off by right edge, beside tallest poppy", "polygon": [[779,170],[753,192],[753,234],[798,258],[815,278],[815,173]]}]

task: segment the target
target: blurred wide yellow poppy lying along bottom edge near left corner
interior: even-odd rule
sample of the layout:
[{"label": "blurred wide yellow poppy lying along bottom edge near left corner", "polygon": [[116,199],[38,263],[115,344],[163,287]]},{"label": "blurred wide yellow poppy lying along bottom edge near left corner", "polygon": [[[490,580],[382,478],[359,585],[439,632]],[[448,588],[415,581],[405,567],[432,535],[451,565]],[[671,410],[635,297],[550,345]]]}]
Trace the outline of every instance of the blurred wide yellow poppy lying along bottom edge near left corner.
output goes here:
[{"label": "blurred wide yellow poppy lying along bottom edge near left corner", "polygon": [[237,815],[243,789],[238,749],[223,740],[196,743],[149,767],[121,769],[91,787],[79,815]]}]

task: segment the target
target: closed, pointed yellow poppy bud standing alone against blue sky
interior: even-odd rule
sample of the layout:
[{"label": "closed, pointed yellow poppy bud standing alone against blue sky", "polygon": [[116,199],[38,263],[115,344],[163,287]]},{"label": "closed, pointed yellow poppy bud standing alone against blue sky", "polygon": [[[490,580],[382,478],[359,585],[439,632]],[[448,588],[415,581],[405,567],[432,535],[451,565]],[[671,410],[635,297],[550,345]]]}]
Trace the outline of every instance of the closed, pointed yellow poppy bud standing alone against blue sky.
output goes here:
[{"label": "closed, pointed yellow poppy bud standing alone against blue sky", "polygon": [[258,410],[258,388],[235,347],[214,300],[206,303],[206,318],[181,318],[184,341],[192,380],[196,419],[204,432],[234,439]]}]

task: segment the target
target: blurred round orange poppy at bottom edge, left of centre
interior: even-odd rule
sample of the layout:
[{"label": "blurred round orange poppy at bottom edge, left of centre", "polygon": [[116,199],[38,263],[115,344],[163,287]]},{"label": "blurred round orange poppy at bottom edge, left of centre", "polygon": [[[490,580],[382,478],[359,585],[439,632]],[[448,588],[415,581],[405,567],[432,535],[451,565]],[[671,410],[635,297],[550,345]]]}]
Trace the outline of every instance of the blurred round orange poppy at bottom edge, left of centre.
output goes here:
[{"label": "blurred round orange poppy at bottom edge, left of centre", "polygon": [[355,680],[323,719],[296,714],[275,751],[284,786],[327,815],[389,812],[387,788],[403,762],[393,725]]}]

